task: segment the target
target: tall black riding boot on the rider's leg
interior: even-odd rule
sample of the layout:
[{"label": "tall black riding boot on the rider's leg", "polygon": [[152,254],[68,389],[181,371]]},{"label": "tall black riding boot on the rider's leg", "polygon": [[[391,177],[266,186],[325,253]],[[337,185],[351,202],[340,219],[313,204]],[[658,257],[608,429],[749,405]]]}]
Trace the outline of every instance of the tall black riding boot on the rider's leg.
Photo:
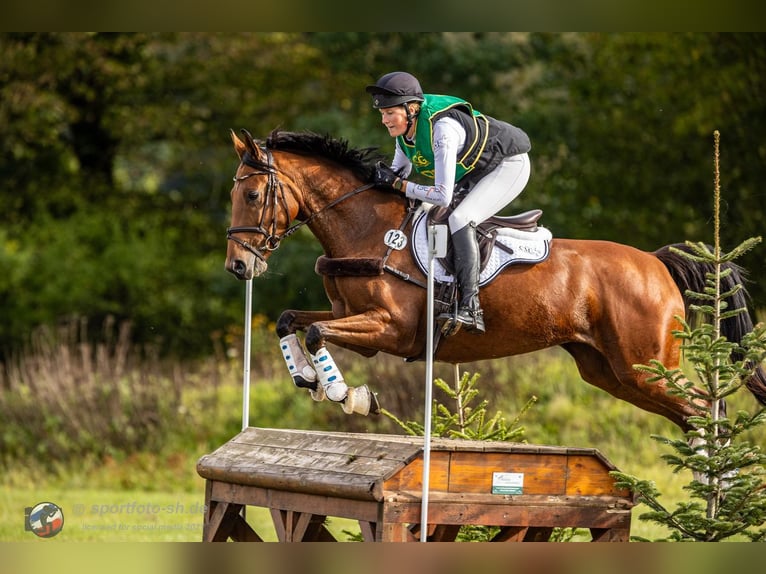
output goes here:
[{"label": "tall black riding boot on the rider's leg", "polygon": [[454,321],[469,331],[484,332],[484,313],[479,305],[479,242],[476,228],[466,225],[452,234],[455,275],[460,304]]}]

